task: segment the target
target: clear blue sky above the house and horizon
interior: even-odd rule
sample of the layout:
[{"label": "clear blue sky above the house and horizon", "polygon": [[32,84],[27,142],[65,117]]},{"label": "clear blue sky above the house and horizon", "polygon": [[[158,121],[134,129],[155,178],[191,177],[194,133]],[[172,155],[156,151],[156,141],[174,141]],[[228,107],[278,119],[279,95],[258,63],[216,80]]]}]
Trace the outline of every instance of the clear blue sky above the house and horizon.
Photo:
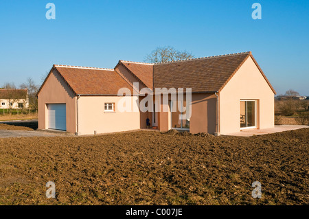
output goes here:
[{"label": "clear blue sky above the house and horizon", "polygon": [[[47,20],[45,5],[56,5]],[[262,5],[253,20],[251,5]],[[214,56],[252,51],[277,91],[309,95],[309,1],[0,1],[0,87],[38,84],[53,64],[113,68],[159,46]]]}]

